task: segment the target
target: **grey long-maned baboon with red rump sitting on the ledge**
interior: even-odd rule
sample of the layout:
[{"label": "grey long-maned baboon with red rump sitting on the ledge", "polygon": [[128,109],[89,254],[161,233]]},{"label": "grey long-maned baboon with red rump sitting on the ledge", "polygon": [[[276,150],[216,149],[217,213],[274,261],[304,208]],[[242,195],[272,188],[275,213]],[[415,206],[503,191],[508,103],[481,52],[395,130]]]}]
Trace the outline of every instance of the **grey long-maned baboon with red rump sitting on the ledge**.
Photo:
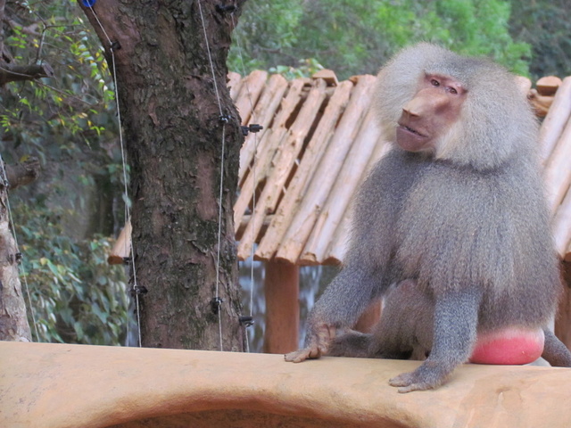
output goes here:
[{"label": "grey long-maned baboon with red rump sitting on the ledge", "polygon": [[[437,45],[405,48],[379,72],[374,108],[393,148],[353,202],[341,272],[308,317],[305,348],[426,358],[389,381],[441,385],[468,361],[571,366],[547,328],[561,281],[537,155],[538,125],[507,70]],[[372,334],[340,336],[386,296]]]}]

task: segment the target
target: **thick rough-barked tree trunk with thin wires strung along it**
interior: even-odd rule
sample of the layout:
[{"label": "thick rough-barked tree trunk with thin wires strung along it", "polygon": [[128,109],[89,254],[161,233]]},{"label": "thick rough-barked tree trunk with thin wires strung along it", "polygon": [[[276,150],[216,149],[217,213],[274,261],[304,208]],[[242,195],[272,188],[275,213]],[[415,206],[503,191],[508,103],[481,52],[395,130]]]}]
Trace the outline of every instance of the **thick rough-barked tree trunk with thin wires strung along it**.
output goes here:
[{"label": "thick rough-barked tree trunk with thin wires strung along it", "polygon": [[[142,342],[148,347],[244,349],[232,217],[243,136],[226,87],[233,23],[230,12],[217,8],[220,3],[99,0],[93,9],[82,5],[111,70],[114,54],[131,166],[137,285],[147,291],[140,303]],[[215,297],[223,300],[221,324],[211,305]]]}]

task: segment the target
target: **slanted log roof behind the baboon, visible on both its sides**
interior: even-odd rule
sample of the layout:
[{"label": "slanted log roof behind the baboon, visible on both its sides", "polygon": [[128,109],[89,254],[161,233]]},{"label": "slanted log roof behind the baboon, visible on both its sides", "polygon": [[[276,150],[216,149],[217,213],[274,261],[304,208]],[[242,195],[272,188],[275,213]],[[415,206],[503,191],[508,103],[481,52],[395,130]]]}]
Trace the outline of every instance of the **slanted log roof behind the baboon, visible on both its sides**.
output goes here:
[{"label": "slanted log roof behind the baboon, visible on both its sides", "polygon": [[[240,153],[239,259],[343,260],[352,195],[389,148],[369,109],[375,81],[365,75],[337,82],[327,71],[291,81],[260,70],[245,78],[229,74],[243,125],[263,127],[246,136]],[[557,250],[571,261],[571,77],[554,96],[532,89],[530,99],[538,108],[551,103],[541,128],[542,162]]]}]

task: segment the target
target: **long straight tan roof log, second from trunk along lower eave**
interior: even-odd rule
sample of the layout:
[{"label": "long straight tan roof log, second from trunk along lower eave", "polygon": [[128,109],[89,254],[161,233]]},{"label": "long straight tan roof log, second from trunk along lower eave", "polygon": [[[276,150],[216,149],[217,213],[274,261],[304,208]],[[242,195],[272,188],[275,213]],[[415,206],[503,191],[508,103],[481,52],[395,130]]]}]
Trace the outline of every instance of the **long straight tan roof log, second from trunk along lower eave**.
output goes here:
[{"label": "long straight tan roof log, second from trunk along lower eave", "polygon": [[274,218],[272,218],[266,235],[261,239],[255,254],[258,259],[269,260],[274,256],[277,246],[280,245],[281,239],[285,234],[290,218],[294,215],[300,202],[303,190],[315,166],[319,163],[329,138],[335,131],[335,125],[340,115],[349,102],[352,87],[353,85],[349,81],[343,81],[339,86],[335,87],[335,92],[329,99],[323,116],[319,120],[318,127],[313,136],[311,136],[311,140],[303,153],[302,162],[298,166]]}]

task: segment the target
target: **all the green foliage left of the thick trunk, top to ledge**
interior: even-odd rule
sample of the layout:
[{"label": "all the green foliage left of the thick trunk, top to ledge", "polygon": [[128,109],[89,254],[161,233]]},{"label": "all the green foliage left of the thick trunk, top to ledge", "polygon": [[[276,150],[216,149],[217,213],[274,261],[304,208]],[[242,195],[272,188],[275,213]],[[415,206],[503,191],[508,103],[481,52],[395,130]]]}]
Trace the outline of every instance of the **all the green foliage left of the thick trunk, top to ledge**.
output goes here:
[{"label": "all the green foliage left of the thick trunk, top to ledge", "polygon": [[123,176],[103,50],[75,1],[9,1],[4,12],[13,61],[54,69],[54,78],[0,92],[4,161],[34,155],[42,164],[35,184],[10,195],[40,340],[120,344],[130,298],[102,234],[123,224]]}]

